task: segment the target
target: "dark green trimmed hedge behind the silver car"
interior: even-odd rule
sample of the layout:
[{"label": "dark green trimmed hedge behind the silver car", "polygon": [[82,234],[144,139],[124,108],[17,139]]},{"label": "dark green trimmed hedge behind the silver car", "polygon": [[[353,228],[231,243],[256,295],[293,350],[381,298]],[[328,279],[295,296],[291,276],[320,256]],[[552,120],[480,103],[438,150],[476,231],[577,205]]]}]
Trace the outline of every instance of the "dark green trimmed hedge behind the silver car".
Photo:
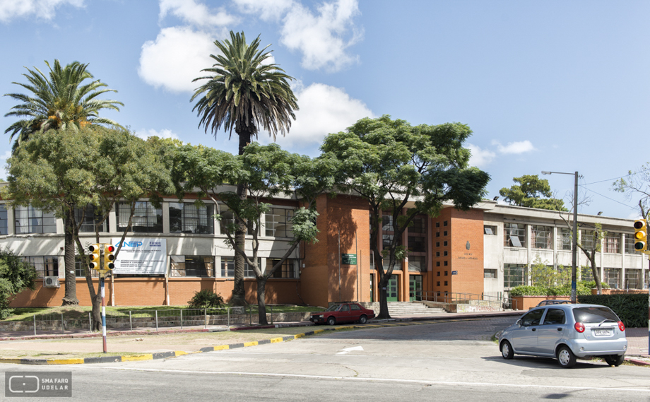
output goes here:
[{"label": "dark green trimmed hedge behind the silver car", "polygon": [[626,327],[648,326],[648,295],[625,293],[621,295],[579,295],[579,303],[607,306],[618,315]]}]

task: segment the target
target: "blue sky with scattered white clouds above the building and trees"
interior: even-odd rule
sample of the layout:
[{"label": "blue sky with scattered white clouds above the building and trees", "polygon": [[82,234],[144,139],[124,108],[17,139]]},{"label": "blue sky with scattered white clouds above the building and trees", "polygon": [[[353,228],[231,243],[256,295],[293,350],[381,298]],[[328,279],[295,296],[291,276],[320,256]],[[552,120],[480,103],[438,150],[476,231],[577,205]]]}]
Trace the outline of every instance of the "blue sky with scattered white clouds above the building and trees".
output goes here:
[{"label": "blue sky with scattered white clouds above the building and trees", "polygon": [[[204,133],[189,99],[214,40],[243,31],[296,78],[300,111],[277,139],[287,150],[316,156],[367,116],[462,122],[489,199],[513,177],[579,171],[591,199],[580,213],[635,218],[637,199],[611,187],[650,159],[649,15],[649,1],[0,0],[0,94],[24,92],[11,84],[24,66],[80,61],[124,102],[105,117],[237,153],[228,133]],[[1,115],[13,105],[0,97]],[[0,164],[10,150],[6,135]],[[573,177],[543,178],[569,201]]]}]

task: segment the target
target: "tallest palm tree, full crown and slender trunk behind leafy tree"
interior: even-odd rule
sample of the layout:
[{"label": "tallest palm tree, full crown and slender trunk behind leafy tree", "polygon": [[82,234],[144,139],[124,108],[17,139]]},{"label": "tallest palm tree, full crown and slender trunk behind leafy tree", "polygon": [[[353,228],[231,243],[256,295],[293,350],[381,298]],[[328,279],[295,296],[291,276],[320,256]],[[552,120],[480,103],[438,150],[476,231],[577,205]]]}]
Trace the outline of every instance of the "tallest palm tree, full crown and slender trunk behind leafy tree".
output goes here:
[{"label": "tallest palm tree, full crown and slender trunk behind leafy tree", "polygon": [[[221,54],[211,54],[215,64],[204,69],[208,76],[196,78],[194,81],[207,80],[196,89],[190,102],[197,99],[193,111],[201,118],[199,127],[204,126],[206,133],[210,129],[213,135],[221,127],[232,129],[240,137],[239,154],[244,154],[244,148],[257,138],[259,129],[268,131],[276,140],[278,132],[284,135],[289,131],[291,120],[295,119],[294,111],[298,110],[297,100],[288,81],[288,76],[277,64],[267,64],[271,57],[266,52],[268,46],[259,49],[259,36],[249,45],[246,43],[244,32],[230,31],[230,41],[214,42]],[[237,185],[237,194],[241,199],[246,198],[247,189],[243,184]],[[246,223],[237,222],[235,244],[244,249]],[[233,305],[244,305],[244,257],[235,254],[235,288],[232,290]]]}]

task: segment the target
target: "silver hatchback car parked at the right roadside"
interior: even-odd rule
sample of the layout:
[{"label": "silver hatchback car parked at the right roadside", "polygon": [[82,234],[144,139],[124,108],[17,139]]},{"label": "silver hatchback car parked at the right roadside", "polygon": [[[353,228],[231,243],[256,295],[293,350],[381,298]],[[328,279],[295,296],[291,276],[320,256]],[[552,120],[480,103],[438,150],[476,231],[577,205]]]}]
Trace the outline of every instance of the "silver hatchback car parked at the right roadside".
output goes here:
[{"label": "silver hatchback car parked at the right roadside", "polygon": [[555,357],[562,367],[577,358],[603,357],[608,365],[625,360],[625,325],[600,305],[549,305],[528,310],[499,337],[504,359],[515,354]]}]

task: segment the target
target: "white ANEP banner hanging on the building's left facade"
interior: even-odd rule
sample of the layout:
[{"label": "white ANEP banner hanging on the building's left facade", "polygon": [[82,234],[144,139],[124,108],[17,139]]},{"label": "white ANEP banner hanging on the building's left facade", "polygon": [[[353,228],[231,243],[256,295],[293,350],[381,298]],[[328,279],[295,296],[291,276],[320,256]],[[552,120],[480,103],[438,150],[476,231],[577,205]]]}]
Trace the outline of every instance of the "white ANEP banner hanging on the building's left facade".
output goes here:
[{"label": "white ANEP banner hanging on the building's left facade", "polygon": [[[112,239],[119,247],[119,240]],[[167,239],[126,237],[119,249],[113,273],[165,275],[167,273]]]}]

